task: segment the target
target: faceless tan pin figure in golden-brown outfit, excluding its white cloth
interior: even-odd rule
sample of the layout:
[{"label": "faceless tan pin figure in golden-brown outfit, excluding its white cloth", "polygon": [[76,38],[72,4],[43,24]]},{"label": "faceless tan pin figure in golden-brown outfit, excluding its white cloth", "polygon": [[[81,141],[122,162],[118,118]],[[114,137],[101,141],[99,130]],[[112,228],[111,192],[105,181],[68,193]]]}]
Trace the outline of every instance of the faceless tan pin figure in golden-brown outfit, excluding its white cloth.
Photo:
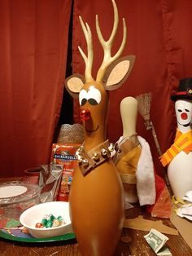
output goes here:
[{"label": "faceless tan pin figure in golden-brown outfit, excluding its white cloth", "polygon": [[137,99],[126,97],[120,102],[120,116],[123,135],[118,141],[119,150],[115,157],[116,168],[124,184],[124,200],[136,203],[137,197],[137,161],[141,154],[141,146],[137,139]]}]

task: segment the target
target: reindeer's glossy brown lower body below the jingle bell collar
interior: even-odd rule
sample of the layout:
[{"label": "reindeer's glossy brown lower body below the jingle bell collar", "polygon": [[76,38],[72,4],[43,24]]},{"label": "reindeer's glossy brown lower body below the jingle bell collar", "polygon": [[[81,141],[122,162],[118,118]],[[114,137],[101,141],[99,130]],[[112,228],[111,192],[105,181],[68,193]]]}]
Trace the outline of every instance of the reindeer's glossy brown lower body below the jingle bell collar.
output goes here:
[{"label": "reindeer's glossy brown lower body below the jingle bell collar", "polygon": [[76,170],[70,192],[74,232],[85,256],[114,254],[124,222],[124,196],[120,176],[111,161],[85,177]]}]

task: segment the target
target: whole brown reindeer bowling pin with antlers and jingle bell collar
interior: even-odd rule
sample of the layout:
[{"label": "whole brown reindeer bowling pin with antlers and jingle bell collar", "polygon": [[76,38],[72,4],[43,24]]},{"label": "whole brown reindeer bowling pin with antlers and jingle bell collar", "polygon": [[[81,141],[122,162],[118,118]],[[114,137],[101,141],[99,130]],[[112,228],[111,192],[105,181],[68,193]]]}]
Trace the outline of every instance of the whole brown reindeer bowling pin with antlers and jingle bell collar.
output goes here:
[{"label": "whole brown reindeer bowling pin with antlers and jingle bell collar", "polygon": [[106,138],[109,105],[108,90],[119,88],[133,68],[134,56],[120,57],[126,42],[126,24],[123,19],[123,39],[119,50],[111,56],[111,46],[118,28],[116,2],[111,36],[104,41],[96,15],[98,39],[103,46],[104,58],[94,80],[91,69],[94,60],[92,34],[89,24],[80,16],[81,28],[87,43],[87,55],[79,51],[85,61],[85,77],[74,74],[66,79],[66,87],[73,97],[79,97],[81,120],[85,126],[85,142],[76,152],[79,168],[72,179],[69,205],[72,227],[76,233],[81,254],[110,256],[124,222],[124,195],[120,176],[111,161],[113,147]]}]

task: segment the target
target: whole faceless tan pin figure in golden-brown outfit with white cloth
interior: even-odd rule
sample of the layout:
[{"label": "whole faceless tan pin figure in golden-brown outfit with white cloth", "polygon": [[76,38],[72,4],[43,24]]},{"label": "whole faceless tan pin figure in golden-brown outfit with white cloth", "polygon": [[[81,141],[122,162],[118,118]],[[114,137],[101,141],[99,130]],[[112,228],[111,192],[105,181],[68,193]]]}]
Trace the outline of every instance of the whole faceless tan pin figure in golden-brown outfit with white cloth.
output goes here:
[{"label": "whole faceless tan pin figure in golden-brown outfit with white cloth", "polygon": [[155,174],[151,149],[137,135],[137,99],[126,97],[120,102],[123,135],[116,143],[114,162],[124,185],[124,201],[140,205],[155,203]]}]

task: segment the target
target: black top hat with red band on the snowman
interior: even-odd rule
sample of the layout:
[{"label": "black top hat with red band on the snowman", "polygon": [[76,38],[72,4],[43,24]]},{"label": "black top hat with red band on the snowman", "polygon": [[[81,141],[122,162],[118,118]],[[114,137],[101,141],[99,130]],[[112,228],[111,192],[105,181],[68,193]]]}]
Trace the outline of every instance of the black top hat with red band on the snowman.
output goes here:
[{"label": "black top hat with red band on the snowman", "polygon": [[192,100],[192,78],[184,78],[180,80],[177,93],[171,96],[172,101],[177,99]]}]

